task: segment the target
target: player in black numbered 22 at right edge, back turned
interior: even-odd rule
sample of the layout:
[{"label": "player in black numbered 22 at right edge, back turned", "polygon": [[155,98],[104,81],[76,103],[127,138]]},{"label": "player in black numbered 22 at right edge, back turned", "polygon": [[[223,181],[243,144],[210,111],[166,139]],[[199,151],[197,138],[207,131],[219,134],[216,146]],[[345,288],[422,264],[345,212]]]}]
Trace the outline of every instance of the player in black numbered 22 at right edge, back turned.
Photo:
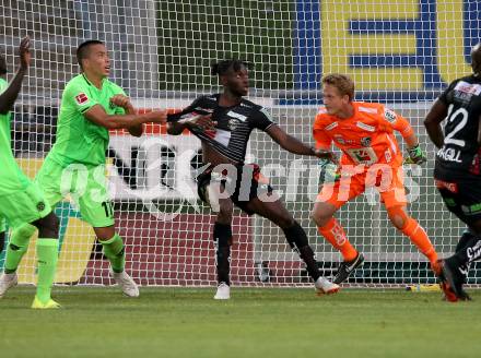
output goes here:
[{"label": "player in black numbered 22 at right edge, back turned", "polygon": [[453,81],[424,120],[438,148],[436,187],[447,208],[469,227],[455,254],[441,260],[438,277],[450,301],[470,299],[462,285],[470,263],[481,259],[481,43],[471,51],[471,67],[473,73]]}]

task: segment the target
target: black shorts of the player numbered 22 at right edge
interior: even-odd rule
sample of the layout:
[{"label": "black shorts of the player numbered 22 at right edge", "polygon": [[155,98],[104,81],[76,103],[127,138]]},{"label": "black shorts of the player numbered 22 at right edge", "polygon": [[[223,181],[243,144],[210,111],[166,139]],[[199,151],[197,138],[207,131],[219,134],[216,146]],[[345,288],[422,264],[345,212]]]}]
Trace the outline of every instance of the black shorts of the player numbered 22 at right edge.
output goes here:
[{"label": "black shorts of the player numbered 22 at right edge", "polygon": [[465,224],[481,219],[481,181],[435,179],[436,188],[447,208]]}]

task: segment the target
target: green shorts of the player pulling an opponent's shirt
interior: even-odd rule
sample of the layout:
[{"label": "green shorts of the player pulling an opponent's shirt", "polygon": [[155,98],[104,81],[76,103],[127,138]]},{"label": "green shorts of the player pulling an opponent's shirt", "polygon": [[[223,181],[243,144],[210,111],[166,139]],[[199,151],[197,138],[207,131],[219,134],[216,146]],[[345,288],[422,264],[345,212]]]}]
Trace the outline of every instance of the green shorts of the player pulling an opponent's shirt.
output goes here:
[{"label": "green shorts of the player pulling an opponent's shirt", "polygon": [[70,194],[80,210],[82,219],[93,227],[114,225],[114,210],[107,192],[105,166],[72,164],[63,168],[46,159],[35,182],[42,188],[45,200],[54,207]]}]

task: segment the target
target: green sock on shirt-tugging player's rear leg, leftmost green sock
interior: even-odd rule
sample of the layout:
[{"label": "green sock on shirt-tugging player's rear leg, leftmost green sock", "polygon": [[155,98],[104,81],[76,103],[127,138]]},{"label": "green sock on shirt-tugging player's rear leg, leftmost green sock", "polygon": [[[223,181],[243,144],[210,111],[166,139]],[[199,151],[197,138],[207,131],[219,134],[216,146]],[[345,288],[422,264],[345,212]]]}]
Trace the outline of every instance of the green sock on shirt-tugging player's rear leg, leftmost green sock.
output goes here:
[{"label": "green sock on shirt-tugging player's rear leg, leftmost green sock", "polygon": [[35,230],[35,226],[24,224],[12,231],[5,254],[4,272],[7,274],[15,272],[19,267],[23,255],[28,249],[30,239]]}]

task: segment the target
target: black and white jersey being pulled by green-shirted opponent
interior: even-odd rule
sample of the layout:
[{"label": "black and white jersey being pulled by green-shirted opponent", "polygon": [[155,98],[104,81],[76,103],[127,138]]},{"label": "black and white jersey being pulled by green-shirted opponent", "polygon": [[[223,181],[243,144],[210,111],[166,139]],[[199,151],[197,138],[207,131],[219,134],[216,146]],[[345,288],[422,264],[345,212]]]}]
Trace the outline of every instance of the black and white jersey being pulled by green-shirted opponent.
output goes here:
[{"label": "black and white jersey being pulled by green-shirted opponent", "polygon": [[212,114],[216,122],[212,131],[190,130],[203,143],[231,160],[244,163],[250,132],[257,128],[266,131],[273,124],[271,115],[262,106],[247,99],[233,107],[219,106],[220,94],[201,96],[183,111],[167,116],[173,122],[190,116]]}]

